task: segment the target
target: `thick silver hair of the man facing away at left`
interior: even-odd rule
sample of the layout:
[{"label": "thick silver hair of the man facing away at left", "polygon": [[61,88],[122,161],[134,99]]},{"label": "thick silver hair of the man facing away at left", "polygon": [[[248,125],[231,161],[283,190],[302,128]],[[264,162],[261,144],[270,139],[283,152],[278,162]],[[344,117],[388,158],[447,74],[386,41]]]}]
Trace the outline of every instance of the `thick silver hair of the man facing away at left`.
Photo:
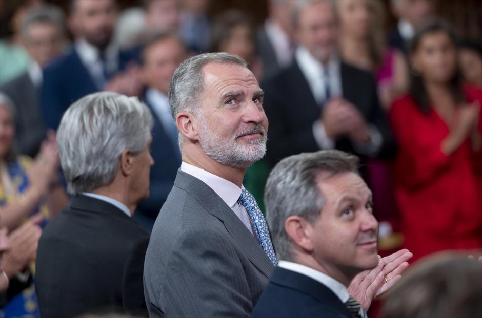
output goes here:
[{"label": "thick silver hair of the man facing away at left", "polygon": [[136,97],[102,92],[73,103],[57,130],[68,192],[75,195],[109,185],[122,152],[142,152],[152,126],[151,111]]}]

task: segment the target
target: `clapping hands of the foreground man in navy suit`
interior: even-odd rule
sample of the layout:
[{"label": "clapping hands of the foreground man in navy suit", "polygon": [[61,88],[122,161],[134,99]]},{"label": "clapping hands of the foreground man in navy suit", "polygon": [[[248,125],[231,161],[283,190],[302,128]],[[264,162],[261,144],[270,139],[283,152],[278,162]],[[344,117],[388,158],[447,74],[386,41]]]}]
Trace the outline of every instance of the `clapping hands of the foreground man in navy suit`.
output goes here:
[{"label": "clapping hands of the foreground man in navy suit", "polygon": [[367,311],[375,298],[387,292],[401,278],[400,274],[408,267],[407,261],[412,256],[408,249],[401,249],[379,258],[375,268],[360,272],[353,278],[348,293]]}]

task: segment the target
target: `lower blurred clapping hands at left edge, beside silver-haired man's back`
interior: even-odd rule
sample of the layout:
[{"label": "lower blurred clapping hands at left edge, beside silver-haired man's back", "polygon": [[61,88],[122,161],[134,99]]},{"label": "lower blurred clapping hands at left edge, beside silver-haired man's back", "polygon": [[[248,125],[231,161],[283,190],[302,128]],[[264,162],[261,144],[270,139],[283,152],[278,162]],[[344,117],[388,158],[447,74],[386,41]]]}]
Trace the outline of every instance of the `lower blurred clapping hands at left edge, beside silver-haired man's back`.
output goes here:
[{"label": "lower blurred clapping hands at left edge, beside silver-haired man's back", "polygon": [[35,260],[38,239],[42,234],[42,229],[38,224],[42,220],[41,215],[36,215],[8,236],[10,249],[3,255],[2,265],[9,278]]}]

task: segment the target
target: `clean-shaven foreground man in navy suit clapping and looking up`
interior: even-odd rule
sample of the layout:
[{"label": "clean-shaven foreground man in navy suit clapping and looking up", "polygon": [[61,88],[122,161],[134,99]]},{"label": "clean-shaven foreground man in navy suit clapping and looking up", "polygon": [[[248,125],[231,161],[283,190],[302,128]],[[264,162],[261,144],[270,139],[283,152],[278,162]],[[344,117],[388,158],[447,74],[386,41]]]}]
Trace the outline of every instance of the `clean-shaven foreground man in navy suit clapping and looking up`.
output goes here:
[{"label": "clean-shaven foreground man in navy suit clapping and looking up", "polygon": [[251,317],[366,317],[408,266],[408,250],[378,256],[372,195],[353,155],[285,158],[268,178],[265,203],[279,262]]}]

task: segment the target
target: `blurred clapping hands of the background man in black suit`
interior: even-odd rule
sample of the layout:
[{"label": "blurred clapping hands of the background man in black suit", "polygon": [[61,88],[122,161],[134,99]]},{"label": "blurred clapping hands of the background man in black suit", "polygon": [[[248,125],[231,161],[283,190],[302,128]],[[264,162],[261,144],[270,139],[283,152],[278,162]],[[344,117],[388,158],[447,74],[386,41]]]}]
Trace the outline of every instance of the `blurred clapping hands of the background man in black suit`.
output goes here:
[{"label": "blurred clapping hands of the background man in black suit", "polygon": [[335,139],[340,135],[348,135],[355,142],[370,140],[365,119],[356,107],[346,99],[334,98],[329,100],[322,111],[322,122],[330,139]]}]

